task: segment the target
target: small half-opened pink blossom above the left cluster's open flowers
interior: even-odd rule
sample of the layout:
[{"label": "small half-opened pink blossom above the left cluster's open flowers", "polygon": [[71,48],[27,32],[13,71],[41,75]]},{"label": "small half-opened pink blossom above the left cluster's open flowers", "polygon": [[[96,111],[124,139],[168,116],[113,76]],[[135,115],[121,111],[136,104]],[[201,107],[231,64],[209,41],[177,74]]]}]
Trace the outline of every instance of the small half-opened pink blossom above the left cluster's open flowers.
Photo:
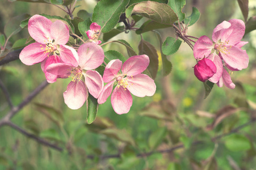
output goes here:
[{"label": "small half-opened pink blossom above the left cluster's open flowers", "polygon": [[90,29],[86,31],[86,35],[89,38],[91,42],[94,42],[95,44],[100,44],[102,41],[98,40],[100,35],[100,25],[97,23],[91,23]]}]

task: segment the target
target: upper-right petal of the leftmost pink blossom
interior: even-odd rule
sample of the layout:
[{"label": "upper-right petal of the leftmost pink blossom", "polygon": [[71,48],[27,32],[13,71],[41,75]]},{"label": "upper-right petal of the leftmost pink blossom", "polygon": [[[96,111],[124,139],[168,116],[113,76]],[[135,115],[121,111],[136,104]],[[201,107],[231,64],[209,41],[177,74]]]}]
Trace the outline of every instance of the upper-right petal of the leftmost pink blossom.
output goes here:
[{"label": "upper-right petal of the leftmost pink blossom", "polygon": [[55,44],[65,45],[69,41],[69,27],[61,20],[56,20],[51,25],[51,35]]}]

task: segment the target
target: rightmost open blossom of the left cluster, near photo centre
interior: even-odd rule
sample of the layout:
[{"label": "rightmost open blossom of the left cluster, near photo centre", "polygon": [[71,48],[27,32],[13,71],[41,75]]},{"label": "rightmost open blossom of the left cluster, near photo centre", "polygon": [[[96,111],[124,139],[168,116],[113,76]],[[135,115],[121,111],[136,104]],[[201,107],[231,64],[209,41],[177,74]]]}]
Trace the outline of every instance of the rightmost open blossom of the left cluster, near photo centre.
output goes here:
[{"label": "rightmost open blossom of the left cluster, near photo centre", "polygon": [[[141,74],[149,65],[149,57],[146,55],[133,56],[124,62],[119,59],[111,60],[104,70],[103,80],[106,84],[98,97],[98,103],[102,104],[111,96],[111,104],[117,114],[128,113],[132,106],[132,95],[138,97],[153,96],[156,92],[156,84],[148,75]],[[121,71],[121,73],[120,73]]]}]

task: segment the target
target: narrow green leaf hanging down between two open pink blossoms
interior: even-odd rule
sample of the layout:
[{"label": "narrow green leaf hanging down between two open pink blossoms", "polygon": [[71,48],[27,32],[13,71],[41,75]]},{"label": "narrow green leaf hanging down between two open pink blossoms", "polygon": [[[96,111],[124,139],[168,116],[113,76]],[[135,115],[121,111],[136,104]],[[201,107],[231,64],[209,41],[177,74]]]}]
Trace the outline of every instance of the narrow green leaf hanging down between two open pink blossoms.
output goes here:
[{"label": "narrow green leaf hanging down between two open pink blossoms", "polygon": [[89,94],[88,99],[86,100],[87,107],[87,123],[91,124],[97,115],[99,104],[97,99],[95,99],[91,94]]}]

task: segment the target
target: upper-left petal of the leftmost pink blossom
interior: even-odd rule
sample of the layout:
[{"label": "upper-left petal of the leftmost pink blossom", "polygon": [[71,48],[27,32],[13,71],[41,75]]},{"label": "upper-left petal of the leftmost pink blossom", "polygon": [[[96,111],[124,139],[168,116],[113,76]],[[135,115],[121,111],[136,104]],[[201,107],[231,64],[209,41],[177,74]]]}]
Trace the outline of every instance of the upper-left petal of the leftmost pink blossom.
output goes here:
[{"label": "upper-left petal of the leftmost pink blossom", "polygon": [[30,36],[40,42],[41,44],[46,44],[49,40],[53,40],[51,36],[51,20],[45,18],[41,15],[33,15],[30,20],[28,20],[28,32]]}]

